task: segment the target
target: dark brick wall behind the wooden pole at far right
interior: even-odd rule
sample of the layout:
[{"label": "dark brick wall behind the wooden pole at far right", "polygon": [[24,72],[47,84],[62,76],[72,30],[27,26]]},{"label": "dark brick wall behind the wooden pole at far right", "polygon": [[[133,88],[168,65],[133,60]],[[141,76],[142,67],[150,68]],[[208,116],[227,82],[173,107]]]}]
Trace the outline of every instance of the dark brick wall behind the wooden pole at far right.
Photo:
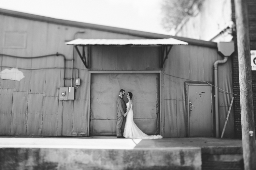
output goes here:
[{"label": "dark brick wall behind the wooden pole at far right", "polygon": [[[231,0],[232,5],[232,21],[236,23],[235,18],[235,7],[234,0]],[[248,18],[249,18],[249,34],[251,41],[251,50],[256,50],[256,1],[247,0],[248,5]],[[236,31],[233,32],[233,41],[235,44],[235,52],[232,55],[232,86],[233,93],[239,95],[239,68],[238,68],[238,53],[237,53],[237,35]],[[252,71],[252,84],[253,84],[253,105],[254,105],[254,120],[256,120],[256,71]],[[234,95],[234,131],[235,138],[242,138],[241,128],[241,108],[240,108],[240,97]],[[256,122],[256,121],[255,121]]]}]

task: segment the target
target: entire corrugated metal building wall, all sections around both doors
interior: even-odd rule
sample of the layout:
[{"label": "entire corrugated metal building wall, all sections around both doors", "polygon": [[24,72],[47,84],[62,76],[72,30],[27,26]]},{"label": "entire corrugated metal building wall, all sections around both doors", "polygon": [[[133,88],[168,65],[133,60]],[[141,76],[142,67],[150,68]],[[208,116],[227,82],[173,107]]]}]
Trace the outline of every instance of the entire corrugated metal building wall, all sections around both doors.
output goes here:
[{"label": "entire corrugated metal building wall, all sections around both doors", "polygon": [[[0,15],[1,53],[16,56],[64,54],[72,58],[73,47],[65,41],[74,38],[142,38],[119,33],[62,26],[46,22]],[[9,47],[13,39],[6,35],[21,35],[22,47]],[[14,35],[14,34],[13,34]],[[157,47],[93,47],[91,70],[161,70]],[[73,78],[80,78],[72,101],[58,100],[58,88],[63,86],[64,69],[61,57],[16,59],[0,56],[1,71],[19,68],[25,78],[20,81],[0,79],[0,135],[87,136],[90,114],[90,73],[79,56],[74,55]],[[161,74],[161,134],[165,137],[186,136],[185,81],[184,79],[213,82],[212,65],[221,59],[216,49],[198,46],[174,46]],[[66,78],[72,77],[72,62],[66,63]],[[23,69],[22,69],[23,68]],[[40,69],[39,69],[40,68]],[[36,69],[36,70],[27,70]],[[169,75],[167,75],[169,74]],[[173,75],[175,78],[170,75]],[[66,87],[74,81],[66,80]],[[219,87],[231,88],[231,61],[219,66]],[[231,94],[219,92],[220,129],[227,115]],[[233,136],[231,112],[225,137]]]}]

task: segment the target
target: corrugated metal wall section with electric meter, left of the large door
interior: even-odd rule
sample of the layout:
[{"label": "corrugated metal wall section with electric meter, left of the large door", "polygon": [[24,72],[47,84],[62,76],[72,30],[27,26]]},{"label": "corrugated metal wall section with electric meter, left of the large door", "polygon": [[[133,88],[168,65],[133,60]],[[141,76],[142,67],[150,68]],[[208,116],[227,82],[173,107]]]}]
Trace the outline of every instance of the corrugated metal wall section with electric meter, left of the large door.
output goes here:
[{"label": "corrugated metal wall section with electric meter, left of the large door", "polygon": [[[0,53],[23,57],[58,52],[72,59],[73,47],[65,42],[74,38],[142,38],[5,15],[0,15],[0,22]],[[81,30],[85,33],[76,34]],[[23,39],[15,43],[15,36]],[[0,56],[0,71],[18,68],[25,76],[20,81],[0,79],[0,135],[89,135],[90,75],[76,52],[74,59],[73,78],[81,79],[76,100],[59,101],[58,88],[63,86],[64,78],[62,57],[25,60]],[[66,78],[71,78],[72,62],[67,61],[66,67]],[[65,85],[74,86],[74,81],[66,80]]]}]

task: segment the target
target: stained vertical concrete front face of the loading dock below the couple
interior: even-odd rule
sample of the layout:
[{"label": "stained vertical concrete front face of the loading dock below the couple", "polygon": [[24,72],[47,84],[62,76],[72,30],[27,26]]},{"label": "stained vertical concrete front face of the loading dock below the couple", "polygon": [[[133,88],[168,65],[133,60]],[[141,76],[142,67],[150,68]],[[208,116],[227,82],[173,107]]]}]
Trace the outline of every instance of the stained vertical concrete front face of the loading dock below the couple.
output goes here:
[{"label": "stained vertical concrete front face of the loading dock below the couple", "polygon": [[0,169],[201,170],[200,148],[0,148]]}]

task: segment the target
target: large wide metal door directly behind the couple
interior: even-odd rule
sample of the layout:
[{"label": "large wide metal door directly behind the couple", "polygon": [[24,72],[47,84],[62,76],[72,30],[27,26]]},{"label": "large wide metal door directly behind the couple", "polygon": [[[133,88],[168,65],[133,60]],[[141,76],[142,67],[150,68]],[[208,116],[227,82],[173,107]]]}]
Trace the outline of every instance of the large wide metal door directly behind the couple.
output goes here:
[{"label": "large wide metal door directly behind the couple", "polygon": [[[119,90],[132,92],[134,122],[146,134],[157,131],[159,73],[91,74],[90,135],[116,135]],[[124,129],[125,120],[123,123]]]}]

